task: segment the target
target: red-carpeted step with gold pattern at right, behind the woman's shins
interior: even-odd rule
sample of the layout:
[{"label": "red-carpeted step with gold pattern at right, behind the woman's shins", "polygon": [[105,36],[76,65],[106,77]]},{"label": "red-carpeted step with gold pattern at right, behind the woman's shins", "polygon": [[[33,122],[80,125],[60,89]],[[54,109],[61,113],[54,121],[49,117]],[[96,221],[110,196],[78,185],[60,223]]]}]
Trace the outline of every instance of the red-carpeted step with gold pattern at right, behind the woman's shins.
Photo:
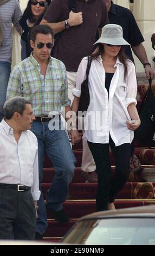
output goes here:
[{"label": "red-carpeted step with gold pattern at right, behind the woman's shins", "polygon": [[[126,182],[117,199],[154,199],[154,186],[155,182]],[[42,184],[44,199],[49,187],[48,183]],[[72,183],[68,199],[95,199],[96,187],[96,183]]]}]

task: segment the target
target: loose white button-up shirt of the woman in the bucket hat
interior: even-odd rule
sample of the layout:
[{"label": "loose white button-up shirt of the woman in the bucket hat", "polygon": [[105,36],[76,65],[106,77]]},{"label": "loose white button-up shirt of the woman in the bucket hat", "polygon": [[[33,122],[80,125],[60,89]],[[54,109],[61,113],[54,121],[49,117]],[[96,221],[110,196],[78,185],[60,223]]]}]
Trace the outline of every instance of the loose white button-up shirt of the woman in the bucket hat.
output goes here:
[{"label": "loose white button-up shirt of the woman in the bucket hat", "polygon": [[[127,107],[137,104],[137,80],[134,64],[127,60],[127,78],[124,80],[124,65],[117,61],[117,69],[113,75],[109,97],[105,88],[105,69],[101,56],[92,60],[89,71],[90,103],[87,109],[85,135],[88,141],[94,143],[109,143],[109,134],[116,146],[131,143],[133,131],[129,130],[126,120],[131,120]],[[72,93],[80,97],[81,83],[86,79],[87,57],[83,58],[78,69],[76,87]]]}]

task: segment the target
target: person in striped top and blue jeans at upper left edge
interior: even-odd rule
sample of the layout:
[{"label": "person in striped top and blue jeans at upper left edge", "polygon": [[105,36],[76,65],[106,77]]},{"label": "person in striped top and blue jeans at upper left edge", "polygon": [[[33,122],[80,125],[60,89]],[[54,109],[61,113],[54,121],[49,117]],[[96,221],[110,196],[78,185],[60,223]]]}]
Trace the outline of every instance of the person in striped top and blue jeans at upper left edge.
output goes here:
[{"label": "person in striped top and blue jeans at upper left edge", "polygon": [[[12,62],[12,23],[18,33],[22,33],[19,20],[22,16],[18,0],[0,1],[0,121],[4,117],[4,102],[11,72]],[[2,28],[2,29],[1,29]]]}]

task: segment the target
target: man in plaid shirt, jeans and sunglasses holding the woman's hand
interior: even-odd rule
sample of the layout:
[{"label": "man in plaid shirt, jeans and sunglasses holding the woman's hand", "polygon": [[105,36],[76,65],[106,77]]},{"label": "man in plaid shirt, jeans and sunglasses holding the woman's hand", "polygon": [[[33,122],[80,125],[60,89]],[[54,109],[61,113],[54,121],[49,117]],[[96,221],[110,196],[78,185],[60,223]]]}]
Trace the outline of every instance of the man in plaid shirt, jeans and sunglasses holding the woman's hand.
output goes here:
[{"label": "man in plaid shirt, jeans and sunglasses holding the woman's hand", "polygon": [[[44,153],[48,155],[55,168],[55,176],[50,186],[46,202],[53,217],[60,223],[69,222],[62,202],[68,195],[68,186],[74,176],[75,156],[70,147],[65,129],[60,129],[60,109],[70,111],[68,84],[64,64],[50,57],[54,45],[54,34],[48,25],[38,25],[31,29],[30,44],[34,49],[30,57],[12,70],[7,100],[13,96],[24,96],[31,100],[35,121],[31,131],[38,141],[38,167],[41,190]],[[49,114],[50,113],[50,114]],[[57,127],[53,129],[53,124]],[[79,133],[74,127],[70,132],[72,144],[79,142]],[[51,181],[49,181],[51,182]],[[46,208],[41,193],[38,201],[36,239],[41,239],[47,228]]]}]

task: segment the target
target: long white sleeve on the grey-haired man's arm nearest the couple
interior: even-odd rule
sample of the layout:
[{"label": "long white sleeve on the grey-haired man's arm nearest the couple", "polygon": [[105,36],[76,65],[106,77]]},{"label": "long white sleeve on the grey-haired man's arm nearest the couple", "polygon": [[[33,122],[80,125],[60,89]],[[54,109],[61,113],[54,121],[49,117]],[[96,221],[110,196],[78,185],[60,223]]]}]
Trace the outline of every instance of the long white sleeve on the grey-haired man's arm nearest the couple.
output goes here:
[{"label": "long white sleeve on the grey-haired man's arm nearest the couple", "polygon": [[[37,143],[37,139],[36,139]],[[38,151],[36,151],[35,160],[34,160],[34,173],[33,173],[33,185],[31,186],[31,194],[33,196],[34,201],[40,199],[40,190],[39,190],[39,182],[38,182]]]}]

